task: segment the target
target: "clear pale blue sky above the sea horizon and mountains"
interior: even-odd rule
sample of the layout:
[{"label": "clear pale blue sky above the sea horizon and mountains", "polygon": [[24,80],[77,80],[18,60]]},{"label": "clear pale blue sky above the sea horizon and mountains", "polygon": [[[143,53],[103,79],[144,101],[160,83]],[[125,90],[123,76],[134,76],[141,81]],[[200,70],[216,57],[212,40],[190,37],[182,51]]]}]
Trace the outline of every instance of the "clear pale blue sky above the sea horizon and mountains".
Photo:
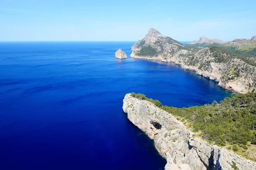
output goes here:
[{"label": "clear pale blue sky above the sea horizon and mountains", "polygon": [[179,41],[256,34],[256,0],[0,0],[0,41]]}]

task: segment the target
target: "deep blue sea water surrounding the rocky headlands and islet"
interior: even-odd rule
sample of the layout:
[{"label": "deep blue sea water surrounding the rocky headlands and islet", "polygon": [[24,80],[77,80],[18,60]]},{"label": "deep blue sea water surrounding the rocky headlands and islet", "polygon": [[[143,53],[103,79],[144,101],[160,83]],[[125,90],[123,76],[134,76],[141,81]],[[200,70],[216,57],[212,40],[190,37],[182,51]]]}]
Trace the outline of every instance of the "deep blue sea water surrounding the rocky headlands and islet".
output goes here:
[{"label": "deep blue sea water surrounding the rocky headlands and islet", "polygon": [[0,170],[164,169],[125,94],[188,107],[231,93],[173,63],[115,59],[133,44],[0,42]]}]

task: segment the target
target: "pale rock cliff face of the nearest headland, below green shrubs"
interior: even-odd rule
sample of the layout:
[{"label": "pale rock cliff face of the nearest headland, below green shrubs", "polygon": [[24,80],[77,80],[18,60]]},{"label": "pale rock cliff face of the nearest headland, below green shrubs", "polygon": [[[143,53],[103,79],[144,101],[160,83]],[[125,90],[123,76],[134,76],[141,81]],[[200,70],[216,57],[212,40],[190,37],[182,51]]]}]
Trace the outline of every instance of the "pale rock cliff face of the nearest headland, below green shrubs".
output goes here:
[{"label": "pale rock cliff face of the nearest headland, below green shrubs", "polygon": [[123,111],[167,160],[166,170],[256,170],[256,163],[193,137],[182,122],[153,103],[126,94]]}]

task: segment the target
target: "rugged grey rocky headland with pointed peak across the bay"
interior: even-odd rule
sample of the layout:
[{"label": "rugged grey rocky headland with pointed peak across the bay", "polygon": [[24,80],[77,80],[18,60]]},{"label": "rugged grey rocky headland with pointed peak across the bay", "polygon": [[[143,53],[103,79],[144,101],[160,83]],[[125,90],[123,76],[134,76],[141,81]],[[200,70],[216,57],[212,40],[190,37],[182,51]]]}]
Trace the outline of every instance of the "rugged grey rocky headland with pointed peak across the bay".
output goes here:
[{"label": "rugged grey rocky headland with pointed peak across the bay", "polygon": [[132,46],[131,57],[175,62],[182,68],[219,82],[237,93],[256,89],[256,67],[218,47],[189,48],[150,28],[143,40]]}]

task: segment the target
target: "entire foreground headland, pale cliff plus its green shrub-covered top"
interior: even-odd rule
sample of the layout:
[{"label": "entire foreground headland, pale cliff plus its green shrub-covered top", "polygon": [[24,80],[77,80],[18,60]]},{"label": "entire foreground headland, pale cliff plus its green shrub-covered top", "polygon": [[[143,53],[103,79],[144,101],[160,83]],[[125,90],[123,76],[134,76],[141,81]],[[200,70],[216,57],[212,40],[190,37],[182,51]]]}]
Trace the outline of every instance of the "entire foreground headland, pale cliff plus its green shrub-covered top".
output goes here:
[{"label": "entire foreground headland, pale cliff plus its green shrub-covered top", "polygon": [[[253,100],[248,101],[249,98]],[[237,105],[239,103],[248,107]],[[250,133],[252,127],[244,127],[247,123],[250,124],[250,121],[255,122],[255,106],[256,93],[240,94],[232,99],[225,98],[221,104],[213,102],[212,105],[191,108],[163,106],[158,100],[132,93],[125,95],[122,109],[128,113],[128,119],[134,125],[154,140],[156,149],[167,161],[165,170],[256,170],[256,163],[248,160],[255,159],[255,152],[251,151],[253,148],[247,151],[246,145],[247,140],[256,144],[256,135]],[[224,108],[227,111],[224,111]],[[238,109],[241,111],[238,112]],[[239,119],[237,116],[240,113],[248,116],[248,120],[236,120]],[[227,122],[233,116],[234,119]],[[203,121],[200,122],[201,120]],[[215,123],[213,126],[212,121]],[[239,121],[244,125],[238,127]],[[198,126],[199,123],[202,127]],[[227,127],[219,129],[221,124]],[[242,128],[248,129],[245,129],[246,132],[237,131],[232,134],[233,130]],[[232,147],[224,147],[227,143],[233,143]],[[253,146],[255,148],[255,145]],[[246,159],[233,152],[239,150],[242,150],[241,153],[248,152],[249,157]]]}]

